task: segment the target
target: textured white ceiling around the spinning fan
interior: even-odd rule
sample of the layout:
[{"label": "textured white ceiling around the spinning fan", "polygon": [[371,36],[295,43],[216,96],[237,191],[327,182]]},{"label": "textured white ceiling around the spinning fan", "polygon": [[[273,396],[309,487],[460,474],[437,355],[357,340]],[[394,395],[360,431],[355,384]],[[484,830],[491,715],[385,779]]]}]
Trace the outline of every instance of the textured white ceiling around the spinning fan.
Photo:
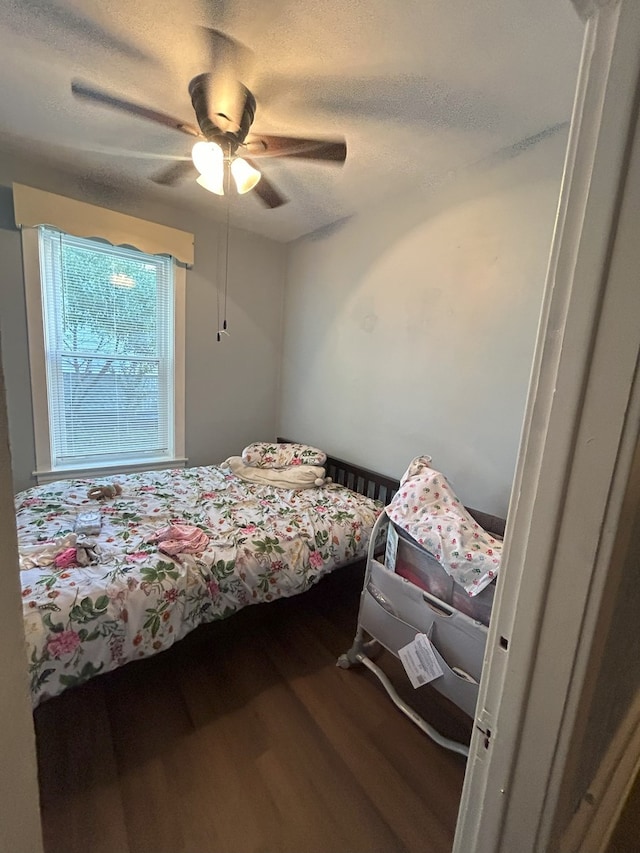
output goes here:
[{"label": "textured white ceiling around the spinning fan", "polygon": [[570,117],[582,25],[569,0],[1,0],[0,145],[216,218],[195,181],[148,180],[187,155],[175,131],[76,101],[74,78],[195,123],[210,70],[198,25],[250,48],[252,130],[347,141],[344,167],[262,160],[289,204],[234,198],[232,222],[291,240],[428,187]]}]

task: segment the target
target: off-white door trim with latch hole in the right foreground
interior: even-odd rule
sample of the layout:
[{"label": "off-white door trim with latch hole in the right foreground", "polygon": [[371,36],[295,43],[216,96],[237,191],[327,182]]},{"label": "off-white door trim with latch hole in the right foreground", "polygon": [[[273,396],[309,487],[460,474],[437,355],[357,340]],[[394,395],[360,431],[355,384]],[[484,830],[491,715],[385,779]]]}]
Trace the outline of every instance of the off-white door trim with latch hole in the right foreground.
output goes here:
[{"label": "off-white door trim with latch hole in the right foreground", "polygon": [[634,247],[615,236],[632,215],[629,193],[640,204],[630,181],[621,208],[639,75],[640,4],[598,5],[585,30],[454,853],[550,849],[638,438],[640,289],[630,275],[640,266],[616,264]]}]

